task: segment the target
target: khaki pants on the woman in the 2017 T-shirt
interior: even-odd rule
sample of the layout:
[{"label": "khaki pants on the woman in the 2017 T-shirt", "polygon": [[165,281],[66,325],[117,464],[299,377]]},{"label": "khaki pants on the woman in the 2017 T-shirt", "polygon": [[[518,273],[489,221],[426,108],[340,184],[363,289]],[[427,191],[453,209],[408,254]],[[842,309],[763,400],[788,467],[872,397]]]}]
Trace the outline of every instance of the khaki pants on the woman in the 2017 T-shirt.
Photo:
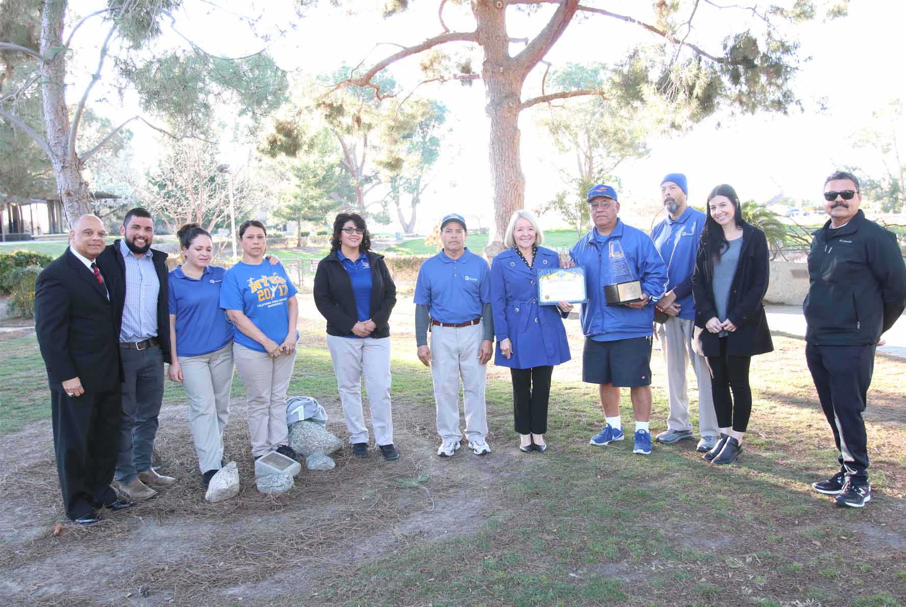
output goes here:
[{"label": "khaki pants on the woman in the 2017 T-shirt", "polygon": [[272,359],[267,352],[234,343],[233,359],[246,385],[248,433],[252,455],[257,458],[285,445],[289,438],[286,390],[293,375],[295,351]]}]

